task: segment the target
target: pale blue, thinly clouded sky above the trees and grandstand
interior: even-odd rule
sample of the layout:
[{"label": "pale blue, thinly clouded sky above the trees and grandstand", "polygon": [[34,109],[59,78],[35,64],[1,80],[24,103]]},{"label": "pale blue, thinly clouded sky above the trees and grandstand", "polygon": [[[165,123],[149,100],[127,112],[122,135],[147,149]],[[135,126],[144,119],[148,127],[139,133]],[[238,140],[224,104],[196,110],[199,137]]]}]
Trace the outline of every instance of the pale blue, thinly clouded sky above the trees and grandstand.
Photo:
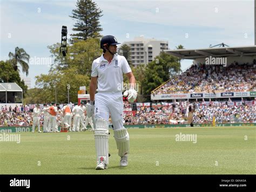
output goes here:
[{"label": "pale blue, thinly clouded sky above the trees and grandstand", "polygon": [[[60,43],[62,25],[73,33],[71,17],[76,0],[0,0],[0,60],[22,47],[31,57],[29,78],[47,74],[52,62],[47,46]],[[118,42],[134,37],[167,40],[169,49],[254,45],[254,1],[94,1],[103,11],[101,35],[113,35]],[[69,36],[68,36],[69,38]],[[43,62],[42,62],[43,61]],[[37,65],[43,63],[42,65]],[[185,70],[192,60],[181,61]],[[25,74],[22,74],[25,76]]]}]

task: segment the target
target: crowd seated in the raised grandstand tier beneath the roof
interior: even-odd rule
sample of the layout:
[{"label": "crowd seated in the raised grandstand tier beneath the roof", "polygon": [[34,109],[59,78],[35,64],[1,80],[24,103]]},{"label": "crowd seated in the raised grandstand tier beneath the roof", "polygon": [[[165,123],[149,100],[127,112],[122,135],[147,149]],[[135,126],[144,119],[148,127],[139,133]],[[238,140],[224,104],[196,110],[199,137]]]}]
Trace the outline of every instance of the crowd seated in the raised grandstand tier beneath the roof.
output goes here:
[{"label": "crowd seated in the raised grandstand tier beneath the roof", "polygon": [[153,93],[215,93],[218,91],[256,91],[256,60],[252,64],[234,62],[226,67],[194,64]]}]

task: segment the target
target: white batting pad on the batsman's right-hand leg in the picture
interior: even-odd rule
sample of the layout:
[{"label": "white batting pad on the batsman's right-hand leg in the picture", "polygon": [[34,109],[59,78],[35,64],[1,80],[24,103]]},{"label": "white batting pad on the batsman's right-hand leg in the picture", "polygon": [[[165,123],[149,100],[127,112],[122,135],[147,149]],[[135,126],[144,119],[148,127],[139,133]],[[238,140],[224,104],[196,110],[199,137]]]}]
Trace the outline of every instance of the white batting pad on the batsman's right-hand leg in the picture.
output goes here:
[{"label": "white batting pad on the batsman's right-hand leg in the picture", "polygon": [[117,143],[118,155],[122,157],[125,154],[129,154],[129,150],[130,150],[129,133],[127,132],[125,127],[114,130],[114,139],[116,140],[116,143]]}]

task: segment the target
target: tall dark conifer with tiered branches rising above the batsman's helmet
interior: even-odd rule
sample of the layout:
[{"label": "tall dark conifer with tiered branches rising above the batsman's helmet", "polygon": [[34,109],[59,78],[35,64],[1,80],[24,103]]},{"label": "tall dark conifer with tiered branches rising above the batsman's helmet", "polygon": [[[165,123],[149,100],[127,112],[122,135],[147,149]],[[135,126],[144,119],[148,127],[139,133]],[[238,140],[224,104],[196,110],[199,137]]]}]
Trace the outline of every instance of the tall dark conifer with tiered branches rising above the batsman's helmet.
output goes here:
[{"label": "tall dark conifer with tiered branches rising above the batsman's helmet", "polygon": [[99,32],[102,28],[100,28],[99,18],[103,16],[102,10],[91,0],[78,0],[76,6],[77,8],[72,10],[70,17],[76,19],[75,28],[72,30],[78,33],[71,36],[83,40],[100,37]]}]

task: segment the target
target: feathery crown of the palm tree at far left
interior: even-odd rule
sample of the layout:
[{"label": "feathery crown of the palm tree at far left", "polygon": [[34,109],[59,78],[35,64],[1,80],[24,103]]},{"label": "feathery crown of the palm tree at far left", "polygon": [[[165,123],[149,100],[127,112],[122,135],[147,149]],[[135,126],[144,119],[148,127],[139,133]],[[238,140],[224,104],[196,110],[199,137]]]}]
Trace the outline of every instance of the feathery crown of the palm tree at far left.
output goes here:
[{"label": "feathery crown of the palm tree at far left", "polygon": [[22,67],[22,72],[26,73],[26,76],[29,74],[29,54],[25,52],[24,49],[15,48],[15,53],[9,53],[10,63],[14,67],[15,71],[18,70],[18,64]]}]

